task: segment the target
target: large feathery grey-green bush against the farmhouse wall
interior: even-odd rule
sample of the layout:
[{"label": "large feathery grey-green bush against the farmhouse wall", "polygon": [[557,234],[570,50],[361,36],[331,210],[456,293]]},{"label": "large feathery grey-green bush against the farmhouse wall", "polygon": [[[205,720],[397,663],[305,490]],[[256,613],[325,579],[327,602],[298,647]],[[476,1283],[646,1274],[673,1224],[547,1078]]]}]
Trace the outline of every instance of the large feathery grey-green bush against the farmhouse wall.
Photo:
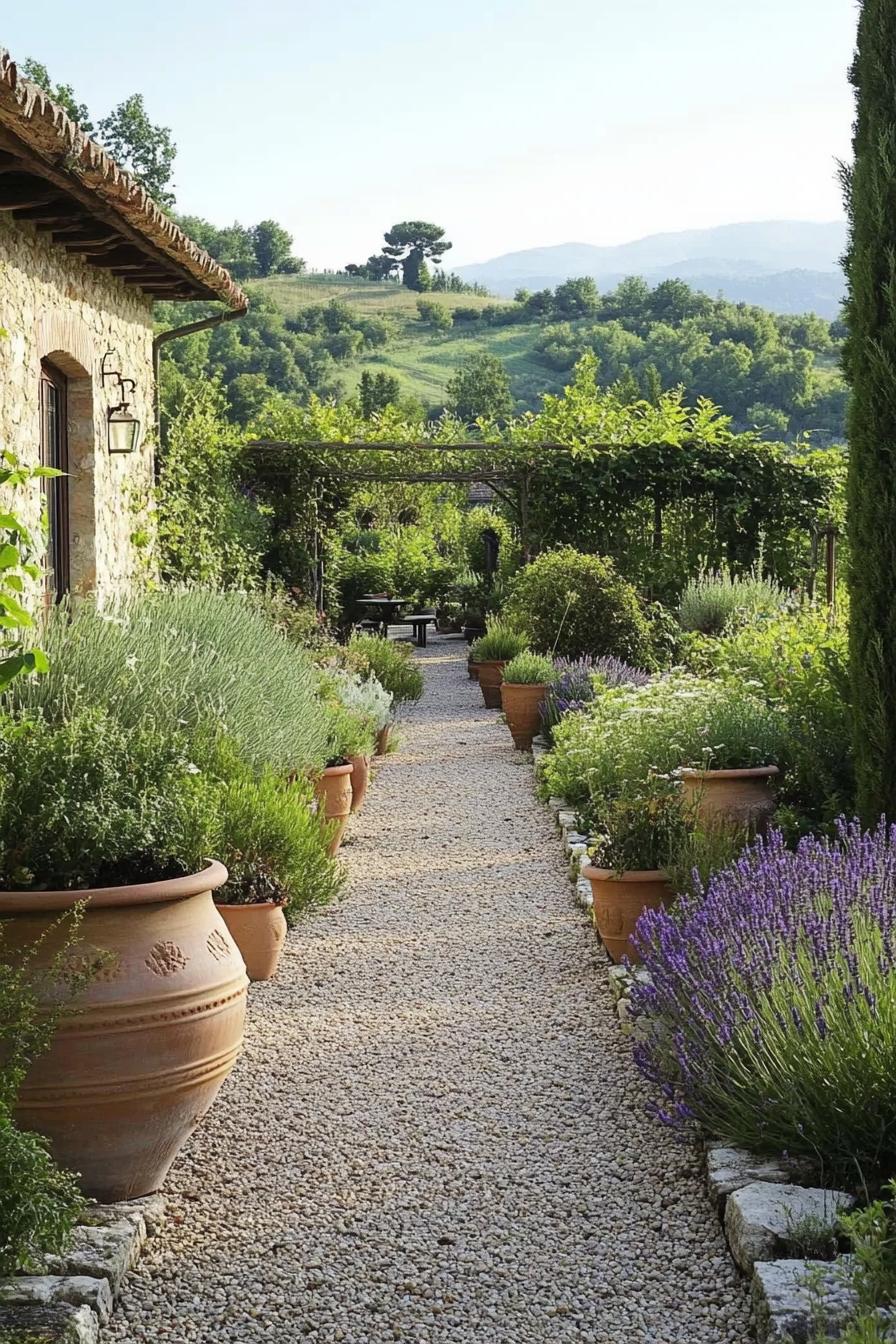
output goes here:
[{"label": "large feathery grey-green bush against the farmhouse wall", "polygon": [[214,720],[258,769],[289,774],[324,763],[317,671],[261,598],[183,589],[102,613],[56,609],[44,648],[47,676],[13,687],[13,703],[26,710],[64,718],[81,706],[102,707],[125,726],[177,724],[197,738]]}]

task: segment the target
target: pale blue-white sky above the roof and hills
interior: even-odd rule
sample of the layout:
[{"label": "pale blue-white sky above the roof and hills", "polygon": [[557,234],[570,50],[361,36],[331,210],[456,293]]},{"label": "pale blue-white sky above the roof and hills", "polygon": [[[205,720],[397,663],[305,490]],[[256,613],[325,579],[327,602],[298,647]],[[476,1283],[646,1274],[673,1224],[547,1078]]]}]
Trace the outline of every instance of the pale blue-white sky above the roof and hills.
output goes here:
[{"label": "pale blue-white sky above the roof and hills", "polygon": [[0,0],[0,46],[94,117],[142,93],[177,208],[274,218],[313,267],[400,219],[446,266],[836,219],[854,0]]}]

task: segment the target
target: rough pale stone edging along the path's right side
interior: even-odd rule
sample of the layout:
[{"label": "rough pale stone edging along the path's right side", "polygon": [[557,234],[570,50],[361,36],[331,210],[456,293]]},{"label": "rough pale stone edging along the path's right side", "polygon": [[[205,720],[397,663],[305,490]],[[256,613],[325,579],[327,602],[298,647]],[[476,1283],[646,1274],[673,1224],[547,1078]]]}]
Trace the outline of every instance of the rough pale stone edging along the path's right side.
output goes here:
[{"label": "rough pale stone edging along the path's right side", "polygon": [[[547,750],[536,738],[535,759]],[[575,809],[566,798],[549,798],[548,806],[563,833],[576,903],[590,911],[591,884],[582,876],[588,862],[588,837],[579,832]],[[607,977],[621,1030],[637,1035],[631,988],[637,980],[647,978],[647,972],[611,964]],[[813,1259],[806,1258],[806,1250],[810,1243],[837,1245],[837,1219],[853,1207],[853,1196],[811,1185],[809,1161],[775,1161],[716,1140],[705,1145],[705,1175],[732,1259],[744,1274],[752,1275],[759,1344],[807,1344],[818,1318],[838,1331],[854,1302],[849,1286],[852,1258]]]}]

